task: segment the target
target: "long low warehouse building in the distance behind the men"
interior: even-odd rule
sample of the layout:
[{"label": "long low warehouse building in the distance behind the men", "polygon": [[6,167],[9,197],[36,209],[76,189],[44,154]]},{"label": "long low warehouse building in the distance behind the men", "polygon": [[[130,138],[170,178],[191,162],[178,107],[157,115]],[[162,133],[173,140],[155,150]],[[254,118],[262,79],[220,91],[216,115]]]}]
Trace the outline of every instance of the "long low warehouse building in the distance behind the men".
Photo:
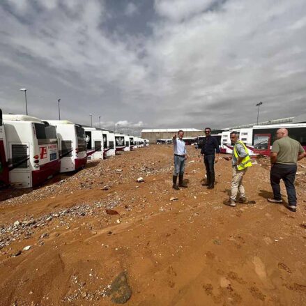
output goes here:
[{"label": "long low warehouse building in the distance behind the men", "polygon": [[178,130],[184,131],[185,138],[196,138],[200,135],[204,135],[203,130],[197,130],[196,128],[165,128],[165,129],[145,129],[141,130],[141,138],[148,139],[151,144],[156,144],[159,139],[172,139],[174,133],[177,134]]}]

